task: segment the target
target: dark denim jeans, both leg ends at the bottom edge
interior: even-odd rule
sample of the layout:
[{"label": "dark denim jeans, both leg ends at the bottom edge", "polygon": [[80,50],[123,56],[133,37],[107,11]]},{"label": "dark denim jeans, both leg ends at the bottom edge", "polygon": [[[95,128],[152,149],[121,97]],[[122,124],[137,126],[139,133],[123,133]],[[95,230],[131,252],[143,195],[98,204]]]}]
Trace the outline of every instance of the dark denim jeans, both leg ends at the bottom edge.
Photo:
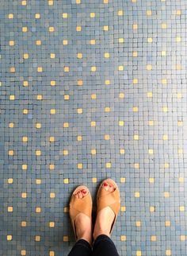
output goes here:
[{"label": "dark denim jeans, both leg ends at the bottom edge", "polygon": [[119,256],[116,246],[107,235],[99,235],[93,242],[93,250],[89,242],[78,240],[68,256]]}]

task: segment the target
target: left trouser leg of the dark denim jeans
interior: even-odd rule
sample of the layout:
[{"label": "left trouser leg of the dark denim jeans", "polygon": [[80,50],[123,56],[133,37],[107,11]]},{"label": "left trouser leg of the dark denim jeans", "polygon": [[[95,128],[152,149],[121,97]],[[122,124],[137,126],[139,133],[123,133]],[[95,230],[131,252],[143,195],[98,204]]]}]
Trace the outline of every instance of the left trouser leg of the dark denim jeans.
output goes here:
[{"label": "left trouser leg of the dark denim jeans", "polygon": [[90,243],[84,239],[79,239],[71,249],[71,252],[68,256],[91,256],[92,248]]}]

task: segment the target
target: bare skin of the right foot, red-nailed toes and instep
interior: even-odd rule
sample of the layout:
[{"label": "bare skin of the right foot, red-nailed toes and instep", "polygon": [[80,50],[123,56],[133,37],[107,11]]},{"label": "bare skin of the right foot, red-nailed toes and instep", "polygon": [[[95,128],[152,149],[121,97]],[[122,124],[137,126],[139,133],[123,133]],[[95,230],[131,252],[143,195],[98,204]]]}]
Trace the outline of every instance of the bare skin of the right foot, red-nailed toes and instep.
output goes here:
[{"label": "bare skin of the right foot, red-nailed toes and instep", "polygon": [[[105,181],[102,184],[102,186],[103,188],[105,188],[106,191],[109,191],[109,192],[113,192],[116,189],[114,185],[108,181]],[[97,213],[97,218],[96,218],[95,227],[93,231],[94,240],[97,239],[98,235],[110,236],[110,231],[111,231],[114,218],[115,218],[115,214],[113,210],[109,207],[105,207]]]}]

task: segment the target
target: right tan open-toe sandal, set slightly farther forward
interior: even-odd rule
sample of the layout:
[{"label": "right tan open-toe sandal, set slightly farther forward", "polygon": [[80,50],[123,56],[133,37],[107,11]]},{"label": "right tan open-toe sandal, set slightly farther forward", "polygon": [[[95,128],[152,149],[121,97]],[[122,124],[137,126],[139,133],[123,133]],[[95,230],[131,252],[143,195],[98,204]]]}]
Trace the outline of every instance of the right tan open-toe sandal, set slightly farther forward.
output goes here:
[{"label": "right tan open-toe sandal, set slightly farther forward", "polygon": [[[113,192],[105,190],[105,188],[103,188],[103,184],[105,182],[112,183],[113,187],[116,189]],[[117,187],[117,184],[112,179],[103,180],[97,192],[97,213],[98,211],[101,211],[101,209],[107,206],[111,208],[115,214],[113,224],[109,232],[109,234],[111,234],[113,231],[114,224],[116,223],[117,215],[120,211],[120,191]]]}]

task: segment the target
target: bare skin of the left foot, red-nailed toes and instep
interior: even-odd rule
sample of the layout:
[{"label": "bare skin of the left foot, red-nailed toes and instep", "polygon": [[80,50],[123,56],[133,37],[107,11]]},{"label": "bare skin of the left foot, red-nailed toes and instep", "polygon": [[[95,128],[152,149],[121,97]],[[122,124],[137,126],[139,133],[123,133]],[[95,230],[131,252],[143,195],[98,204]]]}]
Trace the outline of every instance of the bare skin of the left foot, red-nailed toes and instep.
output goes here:
[{"label": "bare skin of the left foot, red-nailed toes and instep", "polygon": [[[86,189],[80,189],[74,196],[80,200],[87,196],[88,191]],[[92,244],[92,223],[89,216],[84,213],[78,213],[74,218],[74,224],[76,227],[76,235],[79,239],[85,239],[87,242]]]}]

